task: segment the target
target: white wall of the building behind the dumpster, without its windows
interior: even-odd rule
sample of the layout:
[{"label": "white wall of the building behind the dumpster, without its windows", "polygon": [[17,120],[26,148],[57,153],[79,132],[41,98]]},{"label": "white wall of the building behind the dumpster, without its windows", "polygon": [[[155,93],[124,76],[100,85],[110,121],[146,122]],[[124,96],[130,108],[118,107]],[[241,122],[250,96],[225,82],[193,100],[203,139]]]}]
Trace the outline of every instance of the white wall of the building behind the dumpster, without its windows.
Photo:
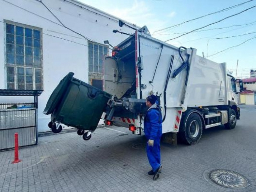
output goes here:
[{"label": "white wall of the building behind the dumpster, without its windows", "polygon": [[[100,12],[99,10],[89,6],[79,4],[79,2],[73,0],[68,1],[95,13],[63,0],[42,0],[42,2],[58,17],[59,20],[61,20],[65,26],[86,36],[91,41],[103,44],[104,40],[109,40],[112,45],[116,45],[127,38],[127,36],[114,34],[112,32],[113,29],[118,29],[126,33],[134,32],[133,29],[125,26],[120,29],[118,26],[118,19],[115,17],[109,16],[108,14]],[[7,88],[4,20],[42,28],[44,91],[38,98],[38,118],[39,132],[48,131],[49,129],[47,124],[50,121],[50,116],[46,116],[42,111],[45,108],[50,94],[58,85],[59,81],[61,81],[68,72],[74,72],[75,78],[88,82],[88,42],[80,35],[61,26],[61,23],[40,1],[5,0],[0,1],[0,7],[0,89]],[[70,41],[74,41],[76,43]],[[32,102],[33,98],[1,97],[0,100],[1,103]]]}]

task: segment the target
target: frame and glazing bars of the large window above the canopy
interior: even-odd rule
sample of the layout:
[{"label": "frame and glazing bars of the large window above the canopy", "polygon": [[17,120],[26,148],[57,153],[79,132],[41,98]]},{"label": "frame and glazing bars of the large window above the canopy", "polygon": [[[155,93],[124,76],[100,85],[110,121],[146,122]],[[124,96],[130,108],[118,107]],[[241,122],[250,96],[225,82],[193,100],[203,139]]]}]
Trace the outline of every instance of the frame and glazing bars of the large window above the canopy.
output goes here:
[{"label": "frame and glazing bars of the large window above the canopy", "polygon": [[[6,89],[8,89],[8,69],[14,68],[14,90],[18,90],[19,89],[19,84],[23,84],[22,89],[21,90],[43,90],[44,87],[44,75],[43,75],[43,44],[42,44],[42,28],[36,27],[36,26],[31,26],[31,25],[26,25],[26,24],[22,24],[22,23],[18,23],[18,22],[13,22],[10,20],[4,20],[5,26],[4,26],[4,49],[5,49],[5,87]],[[8,46],[8,42],[7,42],[7,35],[9,33],[7,33],[7,25],[13,25],[14,26],[14,31],[13,31],[13,35],[14,35],[14,41],[12,43],[12,45],[14,46],[14,50],[13,50],[13,55],[14,55],[14,62],[13,63],[8,63],[8,59],[7,59],[7,54],[8,54],[8,50],[7,50],[7,46]],[[16,39],[17,36],[19,36],[18,34],[16,34],[16,29],[17,27],[22,27],[23,28],[23,64],[17,64],[17,49],[18,46],[21,45],[17,45]],[[33,32],[31,32],[31,37],[26,36],[26,29],[31,29],[33,30]],[[34,30],[39,31],[40,32],[40,37],[38,39],[38,37],[36,36]],[[10,33],[11,34],[11,33]],[[31,38],[31,46],[26,46],[26,37],[27,38]],[[39,47],[35,47],[35,42],[39,42],[40,45]],[[10,44],[11,45],[11,44]],[[39,54],[37,54],[37,51],[39,50]],[[31,54],[27,55],[27,50],[31,50]],[[30,51],[29,51],[30,52]],[[36,52],[36,53],[35,53]],[[31,57],[32,62],[31,65],[27,65],[26,63],[26,56],[27,57]],[[29,58],[27,58],[29,59]],[[39,61],[38,66],[36,66],[35,64],[35,60]],[[39,60],[38,60],[39,59]],[[20,68],[23,68],[23,74],[24,75],[20,75],[23,76],[23,82],[18,82],[18,70],[20,70]],[[32,69],[32,75],[28,75],[27,71],[31,71]],[[41,76],[39,76],[40,78],[37,79],[38,76],[36,76],[36,73],[38,73],[38,71],[40,70],[41,72]],[[28,82],[27,80],[30,79],[32,76],[32,83]],[[38,80],[38,82],[37,82]],[[41,81],[41,82],[40,82]],[[27,86],[32,86],[32,89],[29,89]],[[40,86],[40,89],[37,89],[37,86]],[[12,89],[12,88],[11,88]]]}]

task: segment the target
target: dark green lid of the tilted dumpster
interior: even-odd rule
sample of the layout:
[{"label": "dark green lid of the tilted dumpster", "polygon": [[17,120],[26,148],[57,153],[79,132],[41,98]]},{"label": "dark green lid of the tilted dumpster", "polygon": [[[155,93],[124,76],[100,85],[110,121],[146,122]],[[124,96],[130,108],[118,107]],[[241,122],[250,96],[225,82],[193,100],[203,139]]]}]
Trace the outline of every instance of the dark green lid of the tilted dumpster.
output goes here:
[{"label": "dark green lid of the tilted dumpster", "polygon": [[52,92],[48,102],[46,104],[45,110],[43,111],[44,114],[52,114],[56,107],[58,107],[63,95],[70,84],[70,80],[73,78],[74,73],[69,72],[58,84],[55,90]]}]

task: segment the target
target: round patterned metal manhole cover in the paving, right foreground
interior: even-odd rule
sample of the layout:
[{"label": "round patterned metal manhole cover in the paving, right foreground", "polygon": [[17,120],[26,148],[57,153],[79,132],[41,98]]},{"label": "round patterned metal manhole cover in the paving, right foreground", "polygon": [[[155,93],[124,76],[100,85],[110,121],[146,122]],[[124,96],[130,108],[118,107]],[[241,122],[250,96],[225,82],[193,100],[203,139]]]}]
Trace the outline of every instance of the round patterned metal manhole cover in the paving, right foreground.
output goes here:
[{"label": "round patterned metal manhole cover in the paving, right foreground", "polygon": [[248,180],[241,174],[225,169],[216,169],[209,173],[214,183],[227,188],[238,189],[248,186]]}]

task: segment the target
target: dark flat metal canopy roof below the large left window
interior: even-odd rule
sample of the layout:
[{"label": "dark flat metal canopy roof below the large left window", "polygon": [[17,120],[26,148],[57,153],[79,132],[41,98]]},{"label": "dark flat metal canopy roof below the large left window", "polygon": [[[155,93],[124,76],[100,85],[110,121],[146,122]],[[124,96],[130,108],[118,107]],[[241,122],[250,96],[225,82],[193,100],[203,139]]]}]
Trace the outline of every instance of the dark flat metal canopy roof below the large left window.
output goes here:
[{"label": "dark flat metal canopy roof below the large left window", "polygon": [[8,90],[0,89],[0,96],[39,96],[43,90]]}]

